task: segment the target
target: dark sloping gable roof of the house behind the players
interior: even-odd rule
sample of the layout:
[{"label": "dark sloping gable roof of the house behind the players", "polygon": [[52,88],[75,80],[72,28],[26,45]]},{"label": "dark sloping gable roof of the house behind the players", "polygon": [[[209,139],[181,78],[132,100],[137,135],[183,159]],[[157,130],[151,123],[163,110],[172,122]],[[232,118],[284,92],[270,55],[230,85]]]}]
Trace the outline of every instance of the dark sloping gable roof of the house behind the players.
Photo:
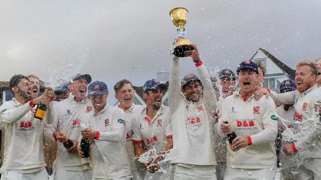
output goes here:
[{"label": "dark sloping gable roof of the house behind the players", "polygon": [[295,70],[288,67],[286,64],[275,58],[273,55],[271,55],[266,50],[259,48],[256,53],[252,56],[250,60],[254,58],[254,56],[259,52],[262,51],[280,70],[289,78],[289,79],[295,79]]}]

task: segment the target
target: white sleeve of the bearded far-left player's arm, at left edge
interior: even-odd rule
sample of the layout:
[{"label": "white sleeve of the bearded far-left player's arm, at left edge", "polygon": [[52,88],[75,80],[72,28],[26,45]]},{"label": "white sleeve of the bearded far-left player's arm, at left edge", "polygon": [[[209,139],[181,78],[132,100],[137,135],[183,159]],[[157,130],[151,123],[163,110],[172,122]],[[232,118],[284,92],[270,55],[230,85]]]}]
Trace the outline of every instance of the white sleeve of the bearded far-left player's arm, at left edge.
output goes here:
[{"label": "white sleeve of the bearded far-left player's arm, at left edge", "polygon": [[31,109],[30,101],[15,109],[13,109],[8,103],[4,103],[1,106],[2,121],[6,123],[16,123]]}]

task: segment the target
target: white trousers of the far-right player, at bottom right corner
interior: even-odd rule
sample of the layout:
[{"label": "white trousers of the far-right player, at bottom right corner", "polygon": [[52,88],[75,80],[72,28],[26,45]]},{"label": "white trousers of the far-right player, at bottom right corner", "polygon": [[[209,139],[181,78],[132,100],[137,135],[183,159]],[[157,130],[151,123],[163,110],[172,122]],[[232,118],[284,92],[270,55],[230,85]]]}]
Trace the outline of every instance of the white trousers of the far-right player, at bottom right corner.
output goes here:
[{"label": "white trousers of the far-right player, at bottom right corner", "polygon": [[321,159],[304,160],[303,164],[299,166],[298,176],[300,180],[321,179]]}]

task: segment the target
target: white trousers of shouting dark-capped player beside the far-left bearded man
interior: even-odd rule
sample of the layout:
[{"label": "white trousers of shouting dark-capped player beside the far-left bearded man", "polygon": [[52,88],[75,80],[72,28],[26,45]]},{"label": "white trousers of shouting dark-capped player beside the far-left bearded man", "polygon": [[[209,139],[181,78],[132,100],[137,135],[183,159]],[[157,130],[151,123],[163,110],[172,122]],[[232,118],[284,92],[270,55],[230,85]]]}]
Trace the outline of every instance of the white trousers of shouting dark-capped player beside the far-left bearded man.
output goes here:
[{"label": "white trousers of shouting dark-capped player beside the far-left bearded man", "polygon": [[64,170],[56,169],[53,173],[53,180],[89,180],[92,179],[92,170]]}]

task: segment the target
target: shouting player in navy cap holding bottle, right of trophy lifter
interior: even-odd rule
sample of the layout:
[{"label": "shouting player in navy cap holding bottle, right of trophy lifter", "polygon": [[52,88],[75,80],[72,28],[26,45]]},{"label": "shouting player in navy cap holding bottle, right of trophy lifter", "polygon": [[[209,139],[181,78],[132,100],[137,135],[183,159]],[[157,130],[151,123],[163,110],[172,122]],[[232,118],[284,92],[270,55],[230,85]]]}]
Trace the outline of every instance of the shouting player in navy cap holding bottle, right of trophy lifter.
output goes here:
[{"label": "shouting player in navy cap holding bottle, right of trophy lifter", "polygon": [[233,131],[237,135],[232,147],[226,142],[224,180],[272,180],[276,168],[276,107],[270,97],[261,97],[258,101],[254,99],[258,82],[258,66],[254,62],[243,61],[236,72],[240,90],[224,99],[220,126],[217,126],[222,137]]}]

